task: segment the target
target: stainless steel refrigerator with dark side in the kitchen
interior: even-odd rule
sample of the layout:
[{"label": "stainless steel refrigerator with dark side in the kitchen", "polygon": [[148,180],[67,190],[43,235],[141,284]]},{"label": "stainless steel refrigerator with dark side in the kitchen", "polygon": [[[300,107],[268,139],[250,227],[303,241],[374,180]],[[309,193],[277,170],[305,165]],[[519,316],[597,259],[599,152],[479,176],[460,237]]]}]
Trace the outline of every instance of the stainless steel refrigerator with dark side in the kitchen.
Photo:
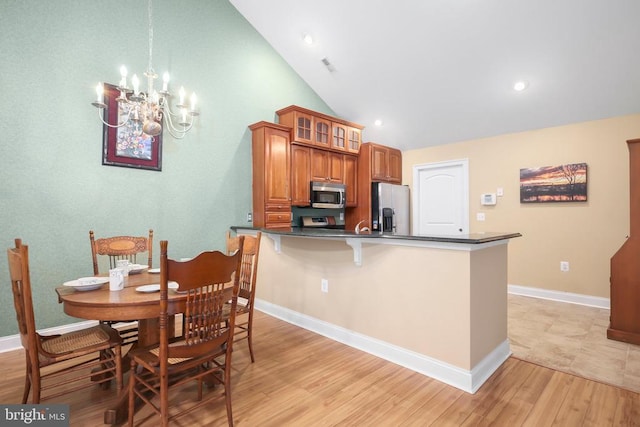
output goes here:
[{"label": "stainless steel refrigerator with dark side in the kitchen", "polygon": [[409,186],[371,184],[371,231],[409,235]]}]

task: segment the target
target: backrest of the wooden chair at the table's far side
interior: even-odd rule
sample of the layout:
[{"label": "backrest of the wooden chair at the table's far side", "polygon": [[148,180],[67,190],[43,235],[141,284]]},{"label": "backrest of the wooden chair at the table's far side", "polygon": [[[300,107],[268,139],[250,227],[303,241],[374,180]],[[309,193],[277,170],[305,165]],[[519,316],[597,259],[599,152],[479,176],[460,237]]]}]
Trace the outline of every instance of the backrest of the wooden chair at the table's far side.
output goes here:
[{"label": "backrest of the wooden chair at the table's far side", "polygon": [[137,264],[137,256],[147,253],[147,265],[151,268],[153,260],[153,230],[149,229],[149,236],[114,236],[96,239],[93,230],[89,231],[91,242],[91,257],[93,258],[93,274],[99,275],[98,255],[106,255],[109,258],[109,268],[116,267],[116,261],[126,259],[132,264]]}]

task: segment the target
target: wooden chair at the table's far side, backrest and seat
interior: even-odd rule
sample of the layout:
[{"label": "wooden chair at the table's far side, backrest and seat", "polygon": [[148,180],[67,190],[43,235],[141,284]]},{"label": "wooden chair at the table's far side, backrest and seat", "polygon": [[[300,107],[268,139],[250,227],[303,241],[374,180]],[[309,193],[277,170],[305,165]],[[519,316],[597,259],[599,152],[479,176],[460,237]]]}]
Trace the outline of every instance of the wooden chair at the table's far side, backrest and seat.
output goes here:
[{"label": "wooden chair at the table's far side, backrest and seat", "polygon": [[[96,239],[93,230],[89,230],[89,241],[91,243],[91,257],[93,259],[93,274],[98,276],[98,255],[103,255],[109,259],[109,268],[115,268],[116,262],[126,259],[132,264],[137,264],[137,256],[147,253],[147,265],[151,268],[153,258],[153,230],[149,229],[149,236],[113,236]],[[102,321],[110,326],[117,325],[120,336],[124,344],[132,344],[138,340],[138,327],[130,320],[122,321]]]}]

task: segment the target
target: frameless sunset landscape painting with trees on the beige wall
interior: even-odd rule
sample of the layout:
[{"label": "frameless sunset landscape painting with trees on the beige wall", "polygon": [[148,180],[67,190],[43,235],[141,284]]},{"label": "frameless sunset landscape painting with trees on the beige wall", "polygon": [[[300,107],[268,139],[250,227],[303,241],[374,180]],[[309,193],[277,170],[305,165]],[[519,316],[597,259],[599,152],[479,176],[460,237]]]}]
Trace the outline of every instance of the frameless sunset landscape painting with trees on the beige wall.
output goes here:
[{"label": "frameless sunset landscape painting with trees on the beige wall", "polygon": [[586,201],[586,163],[520,169],[520,203]]}]

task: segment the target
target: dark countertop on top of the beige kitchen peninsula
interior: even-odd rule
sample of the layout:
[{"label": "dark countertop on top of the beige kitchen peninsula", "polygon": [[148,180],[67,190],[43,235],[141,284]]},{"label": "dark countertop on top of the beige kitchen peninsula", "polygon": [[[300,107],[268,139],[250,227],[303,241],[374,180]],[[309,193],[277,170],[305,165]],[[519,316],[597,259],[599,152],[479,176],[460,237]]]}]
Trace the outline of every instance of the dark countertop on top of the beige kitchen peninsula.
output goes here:
[{"label": "dark countertop on top of the beige kitchen peninsula", "polygon": [[233,231],[238,230],[259,230],[263,233],[277,234],[281,236],[293,236],[293,237],[313,237],[313,238],[364,238],[364,239],[391,239],[391,240],[416,240],[422,242],[446,242],[446,243],[467,243],[467,244],[481,244],[494,242],[497,240],[512,239],[514,237],[521,237],[520,233],[500,233],[500,232],[486,232],[486,233],[470,233],[460,234],[457,236],[421,236],[421,235],[398,235],[391,233],[360,233],[356,234],[354,231],[346,230],[333,230],[323,228],[301,228],[291,227],[289,230],[274,230],[266,228],[255,227],[243,227],[233,226]]}]

